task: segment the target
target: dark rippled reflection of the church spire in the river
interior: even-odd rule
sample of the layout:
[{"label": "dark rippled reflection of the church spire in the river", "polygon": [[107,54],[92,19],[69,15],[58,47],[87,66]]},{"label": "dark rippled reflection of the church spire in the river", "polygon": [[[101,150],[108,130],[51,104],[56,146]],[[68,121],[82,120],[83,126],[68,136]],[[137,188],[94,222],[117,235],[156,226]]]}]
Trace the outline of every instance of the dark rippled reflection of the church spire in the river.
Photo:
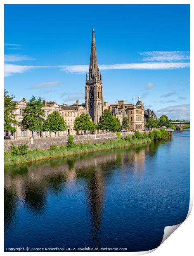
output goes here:
[{"label": "dark rippled reflection of the church spire in the river", "polygon": [[[99,171],[99,170],[98,170]],[[103,178],[94,170],[88,181],[88,206],[90,211],[90,225],[95,245],[99,244],[99,236],[101,231],[101,219],[104,203]]]}]

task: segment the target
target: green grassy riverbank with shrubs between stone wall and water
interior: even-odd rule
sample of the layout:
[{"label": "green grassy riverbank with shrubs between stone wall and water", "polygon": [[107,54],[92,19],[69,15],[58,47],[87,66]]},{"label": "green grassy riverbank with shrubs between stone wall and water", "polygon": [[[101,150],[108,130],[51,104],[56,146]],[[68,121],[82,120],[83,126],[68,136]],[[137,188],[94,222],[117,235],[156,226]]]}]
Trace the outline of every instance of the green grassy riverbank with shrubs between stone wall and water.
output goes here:
[{"label": "green grassy riverbank with shrubs between stone wall and water", "polygon": [[[149,137],[144,133],[141,135],[139,132],[136,132],[133,137],[127,136],[121,139],[121,135],[117,134],[118,140],[107,141],[103,143],[88,143],[88,144],[78,144],[72,147],[51,145],[50,149],[41,150],[35,149],[26,151],[21,149],[19,152],[19,147],[12,149],[12,152],[5,152],[4,165],[10,166],[14,164],[24,164],[33,161],[52,159],[57,157],[66,157],[73,156],[78,154],[87,154],[90,152],[98,152],[107,149],[116,149],[121,147],[129,147],[131,145],[139,145],[149,143],[153,140],[163,139],[168,137],[168,132],[166,130],[158,131],[154,130],[149,132]],[[25,145],[23,145],[25,146]]]}]

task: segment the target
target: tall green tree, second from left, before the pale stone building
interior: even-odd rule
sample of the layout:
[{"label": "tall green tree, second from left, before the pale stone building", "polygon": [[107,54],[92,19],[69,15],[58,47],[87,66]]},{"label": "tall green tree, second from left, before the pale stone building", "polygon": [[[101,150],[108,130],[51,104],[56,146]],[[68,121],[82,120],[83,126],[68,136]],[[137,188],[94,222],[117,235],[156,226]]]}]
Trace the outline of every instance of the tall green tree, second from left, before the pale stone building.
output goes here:
[{"label": "tall green tree, second from left, before the pale stone building", "polygon": [[21,128],[31,131],[32,137],[35,130],[43,130],[43,116],[45,116],[45,111],[42,107],[41,98],[36,100],[36,98],[32,96],[24,109],[23,120],[19,122]]}]

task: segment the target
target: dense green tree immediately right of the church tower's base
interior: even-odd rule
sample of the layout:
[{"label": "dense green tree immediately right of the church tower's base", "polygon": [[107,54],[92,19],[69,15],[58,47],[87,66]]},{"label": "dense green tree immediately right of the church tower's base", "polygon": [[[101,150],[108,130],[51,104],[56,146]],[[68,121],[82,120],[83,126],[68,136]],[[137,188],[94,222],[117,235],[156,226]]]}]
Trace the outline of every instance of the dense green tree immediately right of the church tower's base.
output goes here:
[{"label": "dense green tree immediately right of the church tower's base", "polygon": [[99,130],[116,130],[116,121],[114,121],[109,109],[104,109],[102,116],[99,117],[97,127]]}]

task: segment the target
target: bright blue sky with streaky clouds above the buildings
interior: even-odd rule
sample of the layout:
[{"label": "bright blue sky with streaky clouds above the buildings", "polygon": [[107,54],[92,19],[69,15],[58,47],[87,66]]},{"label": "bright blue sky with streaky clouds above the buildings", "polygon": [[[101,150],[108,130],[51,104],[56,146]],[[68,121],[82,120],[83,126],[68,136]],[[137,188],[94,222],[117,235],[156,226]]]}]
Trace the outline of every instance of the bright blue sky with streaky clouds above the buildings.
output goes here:
[{"label": "bright blue sky with streaky clouds above the buildings", "polygon": [[5,5],[5,88],[59,104],[85,100],[95,29],[104,101],[189,119],[189,5]]}]

